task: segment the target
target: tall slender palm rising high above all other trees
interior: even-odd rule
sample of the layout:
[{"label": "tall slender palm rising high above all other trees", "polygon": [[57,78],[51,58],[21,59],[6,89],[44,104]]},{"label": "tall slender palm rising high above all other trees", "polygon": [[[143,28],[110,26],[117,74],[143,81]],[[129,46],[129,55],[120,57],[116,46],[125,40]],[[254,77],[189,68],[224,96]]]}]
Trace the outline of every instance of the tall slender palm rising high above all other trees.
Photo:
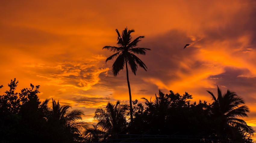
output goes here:
[{"label": "tall slender palm rising high above all other trees", "polygon": [[136,48],[138,42],[141,41],[144,36],[139,36],[132,41],[131,33],[134,30],[127,30],[127,27],[122,31],[122,35],[120,35],[119,31],[117,32],[117,47],[116,46],[105,46],[102,49],[107,49],[109,51],[114,52],[115,54],[111,55],[106,59],[106,63],[108,60],[113,60],[116,58],[114,64],[112,65],[112,72],[114,76],[117,76],[121,70],[123,70],[124,66],[126,67],[126,77],[127,84],[129,89],[129,97],[130,97],[130,117],[131,121],[133,121],[133,107],[132,107],[132,95],[131,88],[128,76],[128,66],[130,66],[134,75],[136,75],[136,71],[138,66],[142,67],[147,71],[147,66],[140,60],[135,54],[145,55],[146,51],[151,50],[148,48]]}]

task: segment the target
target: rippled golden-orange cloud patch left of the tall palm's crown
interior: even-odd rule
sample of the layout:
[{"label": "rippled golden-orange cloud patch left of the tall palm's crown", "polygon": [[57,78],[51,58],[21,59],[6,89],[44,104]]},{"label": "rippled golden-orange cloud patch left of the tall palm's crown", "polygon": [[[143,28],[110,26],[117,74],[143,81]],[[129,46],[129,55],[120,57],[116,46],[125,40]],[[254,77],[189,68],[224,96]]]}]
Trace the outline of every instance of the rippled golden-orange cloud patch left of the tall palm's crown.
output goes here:
[{"label": "rippled golden-orange cloud patch left of the tall palm's crown", "polygon": [[[95,63],[99,63],[95,59]],[[25,67],[36,69],[36,76],[48,80],[48,85],[73,86],[83,90],[91,89],[100,81],[99,74],[107,73],[108,68],[98,69],[95,63],[64,62],[56,66],[28,65]]]}]

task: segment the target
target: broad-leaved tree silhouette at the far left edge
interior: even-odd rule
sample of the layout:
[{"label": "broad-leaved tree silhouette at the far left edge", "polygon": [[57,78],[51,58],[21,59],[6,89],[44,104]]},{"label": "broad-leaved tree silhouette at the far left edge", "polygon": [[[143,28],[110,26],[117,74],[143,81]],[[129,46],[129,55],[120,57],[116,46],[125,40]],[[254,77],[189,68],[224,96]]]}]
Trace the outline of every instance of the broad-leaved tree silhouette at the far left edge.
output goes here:
[{"label": "broad-leaved tree silhouette at the far left edge", "polygon": [[39,86],[32,84],[29,89],[15,92],[17,83],[16,78],[11,80],[10,90],[0,96],[0,142],[45,142],[48,100],[41,104],[37,96]]}]

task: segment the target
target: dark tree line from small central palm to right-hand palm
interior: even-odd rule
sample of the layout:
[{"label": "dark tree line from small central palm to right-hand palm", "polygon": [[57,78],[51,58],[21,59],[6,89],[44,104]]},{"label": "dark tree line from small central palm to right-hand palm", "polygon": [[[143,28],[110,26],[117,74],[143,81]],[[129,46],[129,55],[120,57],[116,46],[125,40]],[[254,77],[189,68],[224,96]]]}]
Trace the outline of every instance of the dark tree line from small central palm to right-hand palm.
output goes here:
[{"label": "dark tree line from small central palm to right-hand palm", "polygon": [[[222,94],[219,87],[217,90],[217,96],[207,91],[213,100],[211,104],[201,100],[198,104],[190,104],[192,95],[187,92],[183,95],[173,91],[164,94],[159,90],[153,100],[142,98],[145,107],[138,100],[133,101],[133,121],[130,122],[126,120],[130,113],[128,104],[121,104],[119,101],[116,104],[108,103],[105,109],[96,110],[94,118],[98,120],[98,124],[87,133],[92,135],[90,140],[95,142],[115,141],[115,134],[175,135],[183,138],[165,137],[167,139],[161,142],[181,142],[184,136],[198,135],[201,135],[199,140],[189,142],[252,142],[247,135],[254,132],[253,128],[239,119],[248,117],[249,109],[243,105],[244,99],[235,92],[227,90]],[[159,142],[159,139],[143,138],[140,142],[142,141]]]}]

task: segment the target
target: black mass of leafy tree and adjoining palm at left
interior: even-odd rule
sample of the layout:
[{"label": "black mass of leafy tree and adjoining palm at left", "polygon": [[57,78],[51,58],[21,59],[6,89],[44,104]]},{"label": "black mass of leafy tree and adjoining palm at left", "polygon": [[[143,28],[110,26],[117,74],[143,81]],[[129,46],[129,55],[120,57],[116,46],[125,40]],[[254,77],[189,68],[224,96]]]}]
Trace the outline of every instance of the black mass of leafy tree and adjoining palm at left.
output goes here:
[{"label": "black mass of leafy tree and adjoining palm at left", "polygon": [[[48,107],[49,99],[40,102],[39,86],[30,84],[20,93],[16,79],[8,84],[10,90],[0,96],[0,142],[77,142],[83,140],[82,130],[86,124],[80,110],[60,106],[52,99],[53,108]],[[2,87],[2,86],[1,86]]]}]

